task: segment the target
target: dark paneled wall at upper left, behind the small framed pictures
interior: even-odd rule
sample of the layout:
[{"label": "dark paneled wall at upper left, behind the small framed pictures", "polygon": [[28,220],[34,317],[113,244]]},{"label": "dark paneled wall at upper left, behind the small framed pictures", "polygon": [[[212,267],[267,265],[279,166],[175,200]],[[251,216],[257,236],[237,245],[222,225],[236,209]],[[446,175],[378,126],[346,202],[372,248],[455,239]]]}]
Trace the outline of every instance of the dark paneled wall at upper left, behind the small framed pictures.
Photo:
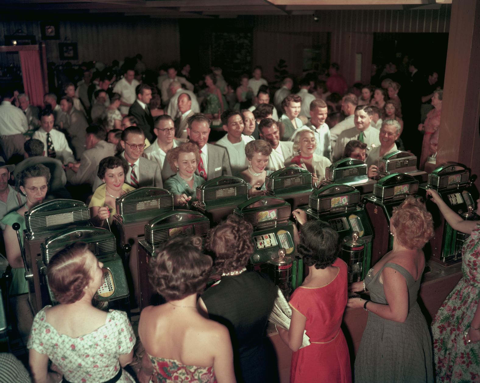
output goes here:
[{"label": "dark paneled wall at upper left, behind the small framed pictures", "polygon": [[[60,40],[45,41],[48,62],[60,62],[58,43],[65,38],[78,44],[78,60],[110,64],[137,53],[144,56],[147,68],[156,69],[164,62],[180,60],[180,34],[177,20],[144,19],[125,21],[60,21]],[[37,21],[0,21],[0,44],[5,35],[17,29],[35,35],[41,41]],[[2,64],[18,64],[18,55],[2,53]]]}]

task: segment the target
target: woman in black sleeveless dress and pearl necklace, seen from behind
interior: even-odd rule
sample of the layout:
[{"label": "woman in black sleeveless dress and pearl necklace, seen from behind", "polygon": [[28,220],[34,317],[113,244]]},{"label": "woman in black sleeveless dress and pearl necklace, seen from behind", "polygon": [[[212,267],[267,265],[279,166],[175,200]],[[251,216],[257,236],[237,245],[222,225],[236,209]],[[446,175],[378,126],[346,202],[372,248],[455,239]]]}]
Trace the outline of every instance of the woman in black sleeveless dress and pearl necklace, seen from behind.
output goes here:
[{"label": "woman in black sleeveless dress and pearl necklace, seen from behind", "polygon": [[276,382],[275,351],[265,337],[277,287],[267,274],[247,272],[252,256],[252,224],[234,215],[210,230],[207,248],[222,279],[198,300],[199,309],[227,326],[237,382]]}]

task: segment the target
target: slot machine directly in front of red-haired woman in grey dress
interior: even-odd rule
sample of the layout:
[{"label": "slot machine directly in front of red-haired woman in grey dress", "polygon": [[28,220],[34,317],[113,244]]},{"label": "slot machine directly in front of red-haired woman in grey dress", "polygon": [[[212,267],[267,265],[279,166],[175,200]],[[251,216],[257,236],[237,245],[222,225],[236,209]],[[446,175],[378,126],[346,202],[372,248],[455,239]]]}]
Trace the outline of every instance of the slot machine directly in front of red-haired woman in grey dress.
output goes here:
[{"label": "slot machine directly in front of red-haired woman in grey dress", "polygon": [[417,195],[419,181],[412,175],[393,173],[378,180],[373,194],[363,198],[363,205],[372,222],[375,237],[372,246],[372,265],[393,247],[390,233],[390,218],[393,212],[408,197]]}]

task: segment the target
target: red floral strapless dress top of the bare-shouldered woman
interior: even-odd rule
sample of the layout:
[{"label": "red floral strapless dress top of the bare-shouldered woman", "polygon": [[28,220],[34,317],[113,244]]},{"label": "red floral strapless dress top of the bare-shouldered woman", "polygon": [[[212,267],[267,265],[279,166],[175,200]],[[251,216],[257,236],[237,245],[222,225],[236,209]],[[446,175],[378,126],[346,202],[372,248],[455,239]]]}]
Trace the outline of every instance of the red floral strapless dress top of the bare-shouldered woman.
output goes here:
[{"label": "red floral strapless dress top of the bare-shouldered woman", "polygon": [[153,364],[158,383],[165,382],[191,382],[191,383],[216,383],[213,366],[198,367],[186,366],[173,359],[157,358],[148,355]]}]

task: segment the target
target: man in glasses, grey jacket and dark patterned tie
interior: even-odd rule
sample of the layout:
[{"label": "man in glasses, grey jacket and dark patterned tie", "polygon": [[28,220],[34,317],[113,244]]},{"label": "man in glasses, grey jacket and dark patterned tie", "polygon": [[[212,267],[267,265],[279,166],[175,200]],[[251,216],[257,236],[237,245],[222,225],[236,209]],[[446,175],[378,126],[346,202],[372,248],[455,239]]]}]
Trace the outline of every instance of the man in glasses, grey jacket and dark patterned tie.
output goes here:
[{"label": "man in glasses, grey jacket and dark patterned tie", "polygon": [[163,187],[160,166],[156,161],[142,157],[145,149],[145,135],[137,126],[130,126],[121,134],[120,145],[124,151],[119,155],[127,160],[129,169],[125,183],[135,188],[142,186]]}]

